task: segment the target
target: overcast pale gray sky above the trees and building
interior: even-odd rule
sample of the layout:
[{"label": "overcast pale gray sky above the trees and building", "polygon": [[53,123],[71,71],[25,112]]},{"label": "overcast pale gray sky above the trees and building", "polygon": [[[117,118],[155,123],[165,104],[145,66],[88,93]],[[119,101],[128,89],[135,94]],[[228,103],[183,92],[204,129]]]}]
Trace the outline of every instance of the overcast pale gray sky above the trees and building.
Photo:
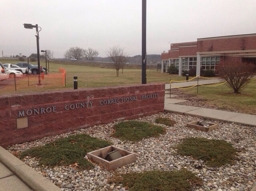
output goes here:
[{"label": "overcast pale gray sky above the trees and building", "polygon": [[[36,53],[61,58],[72,47],[94,48],[105,57],[113,45],[128,55],[141,54],[141,0],[0,0],[0,51],[4,55]],[[147,52],[160,54],[168,42],[256,33],[256,0],[148,0]]]}]

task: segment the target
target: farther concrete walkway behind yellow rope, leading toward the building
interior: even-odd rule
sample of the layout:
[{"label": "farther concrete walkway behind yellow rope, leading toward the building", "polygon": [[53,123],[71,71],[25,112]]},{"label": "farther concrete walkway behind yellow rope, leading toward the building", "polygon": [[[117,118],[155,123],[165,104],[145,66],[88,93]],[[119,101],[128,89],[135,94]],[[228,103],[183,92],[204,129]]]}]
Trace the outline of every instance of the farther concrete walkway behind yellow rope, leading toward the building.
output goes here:
[{"label": "farther concrete walkway behind yellow rope, leading toward the building", "polygon": [[[199,84],[206,85],[206,84],[220,83],[221,79],[199,80],[198,82],[199,82]],[[196,81],[188,81],[188,82],[172,82],[171,84],[178,88],[184,88],[184,87],[193,86],[193,85],[197,84],[197,80]],[[174,87],[171,87],[171,89],[173,89],[173,88]],[[170,89],[170,83],[165,84],[165,89]]]}]

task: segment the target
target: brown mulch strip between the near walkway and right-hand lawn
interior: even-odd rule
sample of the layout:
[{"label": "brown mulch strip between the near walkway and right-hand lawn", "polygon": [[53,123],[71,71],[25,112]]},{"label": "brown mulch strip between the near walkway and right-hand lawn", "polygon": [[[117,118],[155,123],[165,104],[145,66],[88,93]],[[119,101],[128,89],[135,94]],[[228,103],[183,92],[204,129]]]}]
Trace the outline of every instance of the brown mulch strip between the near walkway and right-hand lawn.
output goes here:
[{"label": "brown mulch strip between the near walkway and right-hand lawn", "polygon": [[232,112],[239,112],[239,113],[242,112],[242,113],[254,115],[254,113],[252,111],[246,111],[246,110],[239,111],[235,108],[233,108],[233,109],[221,108],[218,105],[208,103],[207,99],[203,99],[203,98],[198,97],[197,95],[193,95],[193,94],[186,94],[184,92],[184,90],[181,90],[181,89],[176,89],[176,88],[171,89],[171,94],[177,95],[176,97],[173,97],[174,99],[187,100],[187,102],[181,102],[181,103],[178,103],[178,105],[188,105],[188,106],[195,106],[195,107],[200,107],[200,108],[218,109],[218,110],[222,110],[222,111],[232,111]]}]

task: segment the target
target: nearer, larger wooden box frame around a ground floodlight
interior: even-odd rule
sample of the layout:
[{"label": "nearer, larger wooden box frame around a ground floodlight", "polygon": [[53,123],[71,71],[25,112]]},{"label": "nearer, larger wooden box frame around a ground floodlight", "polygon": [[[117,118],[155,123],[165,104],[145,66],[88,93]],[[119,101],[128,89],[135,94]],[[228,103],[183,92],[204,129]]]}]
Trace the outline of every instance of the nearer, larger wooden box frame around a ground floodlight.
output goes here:
[{"label": "nearer, larger wooden box frame around a ground floodlight", "polygon": [[[118,149],[122,157],[112,161],[105,160],[107,154],[109,152],[115,151],[116,149]],[[94,162],[101,164],[102,166],[104,166],[104,168],[107,168],[108,170],[119,168],[136,160],[135,153],[120,149],[113,145],[98,149],[96,151],[88,152],[86,156],[88,157],[88,159],[91,159]]]}]

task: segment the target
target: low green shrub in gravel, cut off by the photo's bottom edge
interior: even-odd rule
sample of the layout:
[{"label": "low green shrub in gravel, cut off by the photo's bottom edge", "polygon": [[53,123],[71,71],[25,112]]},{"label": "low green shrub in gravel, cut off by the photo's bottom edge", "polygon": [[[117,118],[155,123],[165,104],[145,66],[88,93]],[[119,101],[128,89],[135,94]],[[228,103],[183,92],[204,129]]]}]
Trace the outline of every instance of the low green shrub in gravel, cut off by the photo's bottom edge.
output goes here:
[{"label": "low green shrub in gravel, cut off by the photo's bottom edge", "polygon": [[202,180],[186,169],[179,171],[145,171],[127,173],[113,178],[130,191],[190,191],[192,186],[202,185]]}]

